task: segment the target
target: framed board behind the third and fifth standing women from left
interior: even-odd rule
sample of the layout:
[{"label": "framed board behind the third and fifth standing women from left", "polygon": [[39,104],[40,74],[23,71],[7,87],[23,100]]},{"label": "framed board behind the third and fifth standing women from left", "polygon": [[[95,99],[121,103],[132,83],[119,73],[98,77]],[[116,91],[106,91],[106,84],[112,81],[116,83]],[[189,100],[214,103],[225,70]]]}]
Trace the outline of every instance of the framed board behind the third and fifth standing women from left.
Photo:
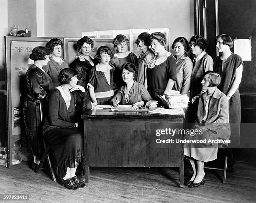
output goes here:
[{"label": "framed board behind the third and fifth standing women from left", "polygon": [[[71,64],[74,62],[76,58],[79,57],[79,52],[77,48],[77,41],[80,38],[64,38],[64,50],[65,50],[65,60]],[[112,38],[91,38],[94,45],[92,48],[91,56],[94,57],[97,53],[97,50],[100,46],[108,46],[111,48],[111,50],[114,50],[112,41]]]}]

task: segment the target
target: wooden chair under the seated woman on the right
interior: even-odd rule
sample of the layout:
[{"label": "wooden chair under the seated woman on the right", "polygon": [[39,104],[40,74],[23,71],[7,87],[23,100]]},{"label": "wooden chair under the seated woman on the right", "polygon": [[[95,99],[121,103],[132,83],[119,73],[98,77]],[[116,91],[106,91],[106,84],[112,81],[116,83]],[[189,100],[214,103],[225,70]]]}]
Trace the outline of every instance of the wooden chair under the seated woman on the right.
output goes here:
[{"label": "wooden chair under the seated woman on the right", "polygon": [[224,167],[223,168],[214,168],[214,167],[207,167],[207,166],[205,166],[204,168],[214,169],[214,170],[223,170],[223,183],[226,183],[226,175],[227,175],[228,162],[230,163],[230,167],[231,167],[232,173],[234,172],[234,167],[233,167],[233,164],[232,164],[232,161],[231,161],[231,159],[233,158],[233,153],[232,153],[232,150],[230,148],[228,148],[227,145],[224,145],[224,144],[219,144],[218,145],[218,149],[224,149],[225,150],[225,163],[224,163]]}]

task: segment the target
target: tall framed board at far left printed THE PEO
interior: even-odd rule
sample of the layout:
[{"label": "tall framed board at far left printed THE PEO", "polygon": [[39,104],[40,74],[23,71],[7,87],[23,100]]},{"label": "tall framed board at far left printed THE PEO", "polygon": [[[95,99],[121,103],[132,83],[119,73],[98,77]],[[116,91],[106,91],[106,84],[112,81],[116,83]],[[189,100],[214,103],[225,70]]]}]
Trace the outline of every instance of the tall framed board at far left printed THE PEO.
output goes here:
[{"label": "tall framed board at far left printed THE PEO", "polygon": [[[7,136],[8,167],[13,165],[13,148],[20,140],[23,132],[23,99],[25,90],[25,74],[33,60],[29,55],[36,46],[45,46],[51,38],[5,37],[7,88]],[[59,38],[63,42],[63,38]]]}]

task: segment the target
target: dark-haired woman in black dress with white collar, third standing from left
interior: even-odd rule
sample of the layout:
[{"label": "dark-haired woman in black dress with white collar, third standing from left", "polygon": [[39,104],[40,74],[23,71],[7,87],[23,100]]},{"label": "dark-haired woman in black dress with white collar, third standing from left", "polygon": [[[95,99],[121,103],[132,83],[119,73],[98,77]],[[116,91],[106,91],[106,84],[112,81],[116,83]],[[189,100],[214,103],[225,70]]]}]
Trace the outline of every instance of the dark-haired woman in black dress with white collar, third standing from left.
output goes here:
[{"label": "dark-haired woman in black dress with white collar, third standing from left", "polygon": [[74,60],[74,62],[70,64],[70,68],[77,70],[77,76],[79,79],[77,84],[83,86],[85,89],[87,89],[90,70],[96,65],[93,58],[90,56],[93,45],[92,39],[88,38],[87,36],[84,36],[78,40],[77,48],[80,55],[76,60]]}]

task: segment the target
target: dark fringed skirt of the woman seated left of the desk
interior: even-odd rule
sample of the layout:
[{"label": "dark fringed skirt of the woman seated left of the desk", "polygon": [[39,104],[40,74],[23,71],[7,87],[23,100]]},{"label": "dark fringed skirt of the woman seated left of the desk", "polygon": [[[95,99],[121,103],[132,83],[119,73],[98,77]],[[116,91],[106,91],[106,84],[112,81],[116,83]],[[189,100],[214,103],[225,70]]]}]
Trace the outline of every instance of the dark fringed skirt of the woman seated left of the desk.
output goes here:
[{"label": "dark fringed skirt of the woman seated left of the desk", "polygon": [[[51,128],[51,127],[49,127]],[[63,178],[67,167],[75,168],[85,163],[82,153],[82,133],[77,128],[52,128],[44,133],[47,143],[51,145],[55,158],[57,175]]]}]

